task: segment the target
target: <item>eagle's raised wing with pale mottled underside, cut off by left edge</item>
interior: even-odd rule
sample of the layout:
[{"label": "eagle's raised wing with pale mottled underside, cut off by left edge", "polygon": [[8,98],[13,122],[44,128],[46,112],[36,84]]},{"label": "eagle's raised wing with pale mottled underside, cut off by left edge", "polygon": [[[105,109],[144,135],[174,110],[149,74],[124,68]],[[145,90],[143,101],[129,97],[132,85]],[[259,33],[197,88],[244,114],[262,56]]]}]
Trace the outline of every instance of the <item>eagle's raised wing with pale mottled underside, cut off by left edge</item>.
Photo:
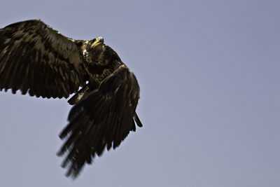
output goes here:
[{"label": "eagle's raised wing with pale mottled underside, cut off by left edge", "polygon": [[69,97],[85,83],[78,46],[41,20],[0,29],[0,90],[36,97]]}]

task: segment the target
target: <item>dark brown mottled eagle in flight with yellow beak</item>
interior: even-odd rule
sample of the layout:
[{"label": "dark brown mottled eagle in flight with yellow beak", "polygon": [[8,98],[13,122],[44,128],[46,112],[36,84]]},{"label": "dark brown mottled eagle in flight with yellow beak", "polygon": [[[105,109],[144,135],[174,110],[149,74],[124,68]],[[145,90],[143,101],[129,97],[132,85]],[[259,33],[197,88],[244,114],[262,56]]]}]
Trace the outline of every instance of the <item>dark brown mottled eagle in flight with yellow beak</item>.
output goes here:
[{"label": "dark brown mottled eagle in flight with yellow beak", "polygon": [[100,36],[90,41],[63,36],[41,20],[0,29],[0,90],[43,98],[68,98],[73,105],[57,155],[66,176],[76,178],[105,149],[115,149],[142,127],[136,109],[139,84]]}]

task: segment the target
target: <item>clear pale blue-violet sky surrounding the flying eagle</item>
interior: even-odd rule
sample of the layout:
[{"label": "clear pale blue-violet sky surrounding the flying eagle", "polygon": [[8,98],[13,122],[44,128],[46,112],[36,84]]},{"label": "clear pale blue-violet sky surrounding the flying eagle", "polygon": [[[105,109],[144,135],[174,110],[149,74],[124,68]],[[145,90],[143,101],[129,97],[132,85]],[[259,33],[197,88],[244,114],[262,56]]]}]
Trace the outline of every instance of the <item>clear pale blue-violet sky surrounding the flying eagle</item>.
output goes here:
[{"label": "clear pale blue-violet sky surrounding the flying eagle", "polygon": [[0,1],[0,27],[41,18],[103,36],[136,74],[143,128],[64,176],[66,99],[0,92],[0,186],[280,186],[279,1]]}]

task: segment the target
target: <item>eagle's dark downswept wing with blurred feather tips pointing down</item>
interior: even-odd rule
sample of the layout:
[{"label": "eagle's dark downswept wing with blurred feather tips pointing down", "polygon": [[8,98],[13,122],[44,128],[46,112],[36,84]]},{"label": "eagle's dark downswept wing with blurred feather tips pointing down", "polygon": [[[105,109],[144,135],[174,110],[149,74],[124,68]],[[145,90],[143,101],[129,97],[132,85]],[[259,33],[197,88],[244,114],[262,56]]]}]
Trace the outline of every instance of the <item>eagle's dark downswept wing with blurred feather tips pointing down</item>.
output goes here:
[{"label": "eagle's dark downswept wing with blurred feather tips pointing down", "polygon": [[78,176],[85,163],[90,164],[104,148],[116,148],[135,131],[135,123],[142,126],[135,109],[139,99],[139,85],[134,74],[125,65],[106,78],[99,89],[73,106],[69,124],[59,135],[66,138],[57,153],[67,151],[62,167],[68,167],[66,176]]}]

